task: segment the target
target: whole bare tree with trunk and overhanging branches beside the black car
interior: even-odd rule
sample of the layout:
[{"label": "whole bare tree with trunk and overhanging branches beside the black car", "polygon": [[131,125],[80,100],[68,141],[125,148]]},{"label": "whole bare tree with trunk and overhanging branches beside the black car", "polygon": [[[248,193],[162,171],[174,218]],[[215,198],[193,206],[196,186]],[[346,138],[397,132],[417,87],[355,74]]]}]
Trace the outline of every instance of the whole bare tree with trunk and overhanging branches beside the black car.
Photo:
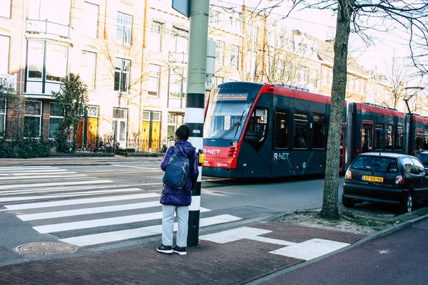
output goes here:
[{"label": "whole bare tree with trunk and overhanging branches beside the black car", "polygon": [[[389,31],[390,27],[404,28],[409,33],[408,46],[412,61],[422,72],[427,73],[423,59],[428,51],[428,3],[426,1],[394,0],[295,0],[293,9],[303,5],[305,8],[334,9],[337,11],[335,35],[335,59],[333,66],[332,104],[330,128],[327,140],[327,163],[325,172],[324,197],[321,217],[339,217],[338,186],[340,154],[337,149],[342,135],[342,114],[347,84],[347,54],[352,30],[365,36],[368,28]],[[379,24],[371,21],[378,19]],[[371,20],[371,21],[370,21]],[[367,38],[367,36],[365,36]]]}]

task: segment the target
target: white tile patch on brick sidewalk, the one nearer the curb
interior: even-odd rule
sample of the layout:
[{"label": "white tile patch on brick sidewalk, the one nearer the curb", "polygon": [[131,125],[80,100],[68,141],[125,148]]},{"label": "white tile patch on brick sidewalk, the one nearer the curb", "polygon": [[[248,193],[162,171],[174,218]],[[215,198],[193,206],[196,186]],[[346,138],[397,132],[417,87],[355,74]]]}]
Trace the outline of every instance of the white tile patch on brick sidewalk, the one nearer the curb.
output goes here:
[{"label": "white tile patch on brick sidewalk, the one nearer the curb", "polygon": [[285,257],[293,257],[296,259],[315,259],[322,255],[334,252],[337,249],[346,247],[350,244],[345,242],[335,242],[327,239],[310,239],[306,242],[292,244],[290,247],[282,247],[270,252],[271,254],[280,254]]}]

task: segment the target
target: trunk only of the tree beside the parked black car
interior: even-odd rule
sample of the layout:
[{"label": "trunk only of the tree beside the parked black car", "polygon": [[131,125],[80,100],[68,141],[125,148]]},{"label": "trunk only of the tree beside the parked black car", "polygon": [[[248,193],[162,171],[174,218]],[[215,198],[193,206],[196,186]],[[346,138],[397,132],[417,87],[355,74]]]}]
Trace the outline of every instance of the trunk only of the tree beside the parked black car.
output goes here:
[{"label": "trunk only of the tree beside the parked black car", "polygon": [[337,193],[339,189],[340,137],[342,136],[343,106],[345,105],[347,81],[347,51],[350,37],[352,2],[338,0],[337,27],[335,37],[335,61],[333,65],[332,103],[330,128],[327,140],[327,162],[325,165],[324,197],[321,217],[338,219]]}]

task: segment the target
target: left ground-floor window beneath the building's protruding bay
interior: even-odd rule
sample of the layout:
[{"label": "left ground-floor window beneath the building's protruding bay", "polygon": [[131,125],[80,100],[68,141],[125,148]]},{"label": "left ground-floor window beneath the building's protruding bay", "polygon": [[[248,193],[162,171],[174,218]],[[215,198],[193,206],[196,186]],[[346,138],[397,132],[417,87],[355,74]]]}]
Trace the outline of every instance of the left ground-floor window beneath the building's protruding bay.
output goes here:
[{"label": "left ground-floor window beneath the building's protruding bay", "polygon": [[41,130],[41,101],[25,101],[24,136],[40,138]]}]

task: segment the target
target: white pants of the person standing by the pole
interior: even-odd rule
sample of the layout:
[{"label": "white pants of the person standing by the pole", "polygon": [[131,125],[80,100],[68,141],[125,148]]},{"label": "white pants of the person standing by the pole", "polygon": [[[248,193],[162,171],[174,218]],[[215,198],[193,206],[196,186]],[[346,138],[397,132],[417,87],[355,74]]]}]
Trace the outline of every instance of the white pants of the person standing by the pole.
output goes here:
[{"label": "white pants of the person standing by the pole", "polygon": [[188,206],[163,205],[162,244],[166,246],[173,245],[174,212],[177,215],[178,222],[177,246],[187,247],[189,219]]}]

